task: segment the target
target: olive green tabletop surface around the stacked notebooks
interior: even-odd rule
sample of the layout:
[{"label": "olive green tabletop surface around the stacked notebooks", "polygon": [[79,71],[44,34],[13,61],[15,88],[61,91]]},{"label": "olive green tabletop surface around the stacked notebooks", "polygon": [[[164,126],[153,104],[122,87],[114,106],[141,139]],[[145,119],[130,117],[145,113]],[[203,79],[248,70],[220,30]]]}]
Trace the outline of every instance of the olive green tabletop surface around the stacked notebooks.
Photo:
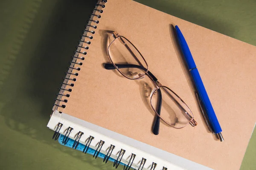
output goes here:
[{"label": "olive green tabletop surface around the stacked notebooks", "polygon": [[[256,45],[254,0],[137,1]],[[61,146],[46,127],[61,77],[94,4],[93,0],[0,1],[1,170],[114,169],[102,159]],[[255,159],[254,132],[241,170],[255,170]]]}]

